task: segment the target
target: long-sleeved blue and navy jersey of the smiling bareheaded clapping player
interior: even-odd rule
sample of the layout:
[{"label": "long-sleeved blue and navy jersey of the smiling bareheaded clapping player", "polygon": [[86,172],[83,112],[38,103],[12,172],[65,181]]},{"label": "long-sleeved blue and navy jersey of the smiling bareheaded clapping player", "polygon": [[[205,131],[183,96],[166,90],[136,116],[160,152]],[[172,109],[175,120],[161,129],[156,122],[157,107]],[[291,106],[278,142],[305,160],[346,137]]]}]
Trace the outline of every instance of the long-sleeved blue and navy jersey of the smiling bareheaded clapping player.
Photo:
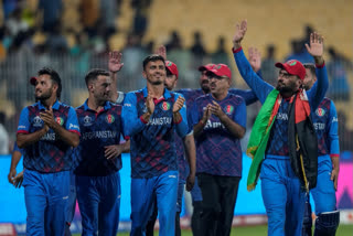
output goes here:
[{"label": "long-sleeved blue and navy jersey of the smiling bareheaded clapping player", "polygon": [[180,94],[164,89],[163,97],[154,100],[154,111],[146,122],[147,87],[126,95],[122,108],[124,130],[130,137],[131,176],[152,178],[170,170],[178,170],[175,135],[188,133],[185,105],[181,108],[181,121],[173,121],[172,108]]}]

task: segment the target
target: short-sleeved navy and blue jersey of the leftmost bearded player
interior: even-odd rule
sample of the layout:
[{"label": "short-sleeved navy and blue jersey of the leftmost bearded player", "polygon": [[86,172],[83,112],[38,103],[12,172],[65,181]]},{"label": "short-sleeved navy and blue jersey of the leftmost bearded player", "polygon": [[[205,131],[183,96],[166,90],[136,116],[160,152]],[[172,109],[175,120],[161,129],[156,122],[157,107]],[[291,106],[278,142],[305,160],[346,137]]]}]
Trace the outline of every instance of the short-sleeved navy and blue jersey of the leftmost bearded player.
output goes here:
[{"label": "short-sleeved navy and blue jersey of the leftmost bearded player", "polygon": [[[75,109],[58,100],[52,106],[55,121],[71,132],[79,135],[79,126]],[[41,130],[44,122],[40,112],[45,107],[41,101],[23,108],[20,116],[18,133],[32,133]],[[50,129],[38,142],[30,144],[23,150],[23,165],[28,170],[43,173],[68,171],[72,168],[73,148],[56,137]]]}]

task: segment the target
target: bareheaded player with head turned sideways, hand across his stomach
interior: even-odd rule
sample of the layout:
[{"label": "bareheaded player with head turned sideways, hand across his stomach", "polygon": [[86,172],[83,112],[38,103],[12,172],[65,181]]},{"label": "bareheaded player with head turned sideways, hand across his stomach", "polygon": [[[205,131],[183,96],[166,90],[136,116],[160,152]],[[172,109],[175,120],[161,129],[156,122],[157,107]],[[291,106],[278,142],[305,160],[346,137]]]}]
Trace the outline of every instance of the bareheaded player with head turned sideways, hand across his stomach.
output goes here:
[{"label": "bareheaded player with head turned sideways, hand across his stomach", "polygon": [[92,69],[85,76],[88,99],[76,108],[82,130],[76,149],[76,194],[83,235],[116,235],[119,225],[122,133],[121,106],[110,101],[109,72]]}]

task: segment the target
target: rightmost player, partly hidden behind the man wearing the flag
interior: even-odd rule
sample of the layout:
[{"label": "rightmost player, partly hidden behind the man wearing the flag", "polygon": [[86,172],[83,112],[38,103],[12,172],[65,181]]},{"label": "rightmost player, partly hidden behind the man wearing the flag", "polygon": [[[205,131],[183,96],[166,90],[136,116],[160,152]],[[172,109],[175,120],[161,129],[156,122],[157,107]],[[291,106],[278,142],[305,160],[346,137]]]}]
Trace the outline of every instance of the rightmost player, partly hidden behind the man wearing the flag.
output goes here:
[{"label": "rightmost player, partly hidden behind the man wearing the flag", "polygon": [[[304,67],[307,73],[303,85],[309,90],[317,82],[315,66],[314,64],[304,64]],[[335,199],[340,172],[339,120],[334,103],[330,98],[323,98],[312,114],[312,119],[319,141],[318,183],[310,191],[315,204],[315,215],[318,216],[314,235],[334,236],[340,224],[340,212],[336,211]],[[310,207],[309,202],[308,204]],[[303,222],[304,236],[311,236],[311,210],[309,211],[308,208]]]}]

